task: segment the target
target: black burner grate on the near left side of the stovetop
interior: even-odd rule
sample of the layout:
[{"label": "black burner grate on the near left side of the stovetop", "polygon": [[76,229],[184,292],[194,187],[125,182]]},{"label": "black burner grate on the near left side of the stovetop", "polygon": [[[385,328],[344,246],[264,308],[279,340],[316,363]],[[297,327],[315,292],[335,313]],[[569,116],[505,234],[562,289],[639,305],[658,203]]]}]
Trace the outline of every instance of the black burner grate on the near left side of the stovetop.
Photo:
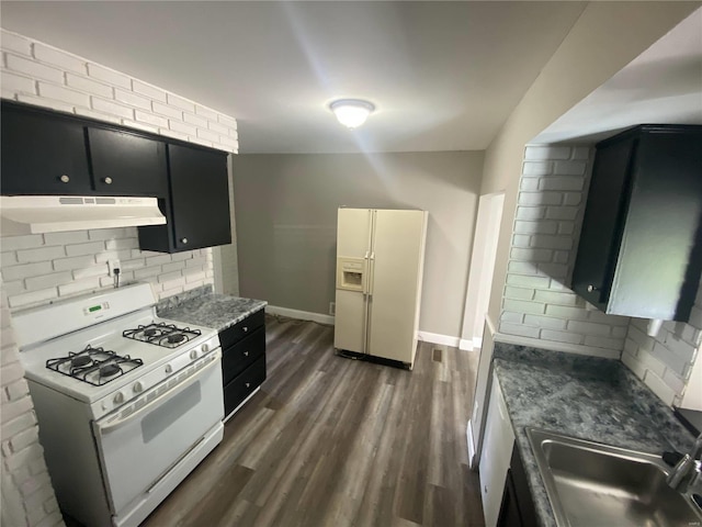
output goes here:
[{"label": "black burner grate on the near left side of the stovetop", "polygon": [[77,354],[69,351],[66,357],[49,359],[46,368],[64,375],[101,386],[144,365],[141,359],[128,355],[120,356],[104,348],[86,346]]}]

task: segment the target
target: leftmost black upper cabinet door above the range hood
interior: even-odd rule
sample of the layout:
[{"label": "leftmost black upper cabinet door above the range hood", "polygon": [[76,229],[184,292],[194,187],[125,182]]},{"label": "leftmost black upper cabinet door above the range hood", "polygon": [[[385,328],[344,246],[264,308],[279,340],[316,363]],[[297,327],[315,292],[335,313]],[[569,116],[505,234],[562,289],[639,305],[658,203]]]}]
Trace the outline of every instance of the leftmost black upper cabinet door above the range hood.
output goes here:
[{"label": "leftmost black upper cabinet door above the range hood", "polygon": [[2,105],[2,193],[90,194],[84,127]]}]

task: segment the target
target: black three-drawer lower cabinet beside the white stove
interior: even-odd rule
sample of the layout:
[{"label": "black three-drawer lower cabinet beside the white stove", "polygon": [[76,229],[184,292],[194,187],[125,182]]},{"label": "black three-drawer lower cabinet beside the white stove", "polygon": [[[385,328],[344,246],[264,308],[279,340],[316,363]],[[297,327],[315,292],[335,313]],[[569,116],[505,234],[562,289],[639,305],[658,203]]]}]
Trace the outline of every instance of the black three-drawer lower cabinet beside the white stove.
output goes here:
[{"label": "black three-drawer lower cabinet beside the white stove", "polygon": [[265,380],[264,316],[258,311],[219,332],[225,418]]}]

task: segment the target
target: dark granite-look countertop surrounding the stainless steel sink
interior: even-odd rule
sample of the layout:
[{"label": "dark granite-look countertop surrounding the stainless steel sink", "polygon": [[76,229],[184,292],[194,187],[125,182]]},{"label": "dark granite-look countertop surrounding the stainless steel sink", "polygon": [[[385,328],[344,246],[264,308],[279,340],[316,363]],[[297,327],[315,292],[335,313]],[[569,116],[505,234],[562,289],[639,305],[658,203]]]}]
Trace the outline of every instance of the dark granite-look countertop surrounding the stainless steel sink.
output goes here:
[{"label": "dark granite-look countertop surrounding the stainless steel sink", "polygon": [[543,527],[555,527],[525,427],[650,453],[687,452],[694,438],[622,362],[495,345],[495,372]]}]

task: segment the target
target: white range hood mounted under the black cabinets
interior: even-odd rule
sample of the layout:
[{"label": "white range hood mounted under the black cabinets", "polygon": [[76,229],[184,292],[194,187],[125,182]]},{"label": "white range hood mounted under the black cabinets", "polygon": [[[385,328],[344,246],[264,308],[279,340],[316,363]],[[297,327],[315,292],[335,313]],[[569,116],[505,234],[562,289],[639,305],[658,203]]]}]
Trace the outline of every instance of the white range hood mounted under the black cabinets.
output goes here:
[{"label": "white range hood mounted under the black cabinets", "polygon": [[163,225],[156,198],[2,195],[0,234],[57,233],[89,228]]}]

